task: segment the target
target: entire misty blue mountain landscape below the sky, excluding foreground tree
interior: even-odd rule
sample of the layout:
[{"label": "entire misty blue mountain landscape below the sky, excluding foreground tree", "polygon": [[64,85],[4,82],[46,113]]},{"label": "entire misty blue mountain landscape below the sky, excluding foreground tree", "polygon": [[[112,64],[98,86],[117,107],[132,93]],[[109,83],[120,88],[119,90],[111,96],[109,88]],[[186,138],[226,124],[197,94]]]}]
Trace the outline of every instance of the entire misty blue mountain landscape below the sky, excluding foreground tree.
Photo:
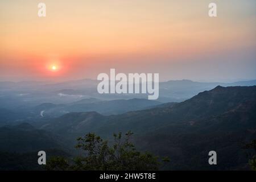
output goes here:
[{"label": "entire misty blue mountain landscape below the sky, excluding foreground tree", "polygon": [[[97,84],[88,79],[1,82],[0,169],[44,170],[38,151],[46,151],[47,160],[65,162],[84,155],[77,148],[86,148],[88,141],[102,147],[108,142],[108,158],[114,159],[115,141],[126,137],[134,146],[121,147],[140,151],[127,153],[134,159],[147,156],[148,169],[250,169],[255,151],[246,145],[256,138],[255,80],[159,82],[158,100],[146,94],[98,94]],[[209,151],[216,151],[216,165],[209,165]],[[74,163],[65,164],[72,170]]]}]

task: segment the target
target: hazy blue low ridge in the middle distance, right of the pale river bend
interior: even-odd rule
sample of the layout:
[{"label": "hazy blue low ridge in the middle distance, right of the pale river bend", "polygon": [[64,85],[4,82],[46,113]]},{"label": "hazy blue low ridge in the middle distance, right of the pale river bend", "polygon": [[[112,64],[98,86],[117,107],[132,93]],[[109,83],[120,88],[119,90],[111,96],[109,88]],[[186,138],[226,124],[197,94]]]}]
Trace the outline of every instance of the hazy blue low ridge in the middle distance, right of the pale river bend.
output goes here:
[{"label": "hazy blue low ridge in the middle distance, right of the pale river bend", "polygon": [[146,109],[161,102],[146,99],[101,101],[96,98],[87,98],[71,104],[44,103],[36,106],[33,112],[41,117],[56,117],[70,112],[97,111],[104,115],[122,114],[127,111]]}]

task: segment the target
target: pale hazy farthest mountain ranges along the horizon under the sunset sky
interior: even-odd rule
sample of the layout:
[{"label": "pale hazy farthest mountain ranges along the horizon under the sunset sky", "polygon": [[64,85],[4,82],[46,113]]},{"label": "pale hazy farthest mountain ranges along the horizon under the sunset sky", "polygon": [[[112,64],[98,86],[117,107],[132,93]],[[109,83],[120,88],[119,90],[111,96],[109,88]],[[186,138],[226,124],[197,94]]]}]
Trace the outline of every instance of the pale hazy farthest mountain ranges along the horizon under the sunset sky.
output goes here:
[{"label": "pale hazy farthest mountain ranges along the horizon under the sunset sky", "polygon": [[[147,98],[147,94],[99,94],[97,80],[72,80],[58,83],[47,82],[0,82],[0,102],[6,109],[17,106],[39,105],[43,102],[68,104],[84,98],[100,100],[128,100],[131,98]],[[181,102],[204,90],[220,86],[253,86],[256,80],[233,83],[196,82],[191,80],[171,80],[159,83],[160,102]]]}]

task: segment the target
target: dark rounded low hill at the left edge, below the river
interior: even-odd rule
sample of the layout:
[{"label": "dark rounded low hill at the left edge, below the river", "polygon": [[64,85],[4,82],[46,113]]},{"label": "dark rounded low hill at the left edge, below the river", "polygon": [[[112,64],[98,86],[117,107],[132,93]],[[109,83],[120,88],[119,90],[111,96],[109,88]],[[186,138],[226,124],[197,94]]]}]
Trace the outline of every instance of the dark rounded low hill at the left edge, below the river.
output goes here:
[{"label": "dark rounded low hill at the left edge, below the river", "polygon": [[31,152],[49,150],[53,148],[63,149],[61,138],[48,131],[35,129],[28,123],[15,126],[0,127],[0,151],[1,152]]}]

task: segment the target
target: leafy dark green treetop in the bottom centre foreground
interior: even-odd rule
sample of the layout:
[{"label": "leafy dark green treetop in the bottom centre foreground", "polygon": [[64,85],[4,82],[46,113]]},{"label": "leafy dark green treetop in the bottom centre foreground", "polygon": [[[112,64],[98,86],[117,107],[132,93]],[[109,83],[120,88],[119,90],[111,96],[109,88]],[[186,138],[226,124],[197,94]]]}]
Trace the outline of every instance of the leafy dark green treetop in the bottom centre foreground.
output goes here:
[{"label": "leafy dark green treetop in the bottom centre foreground", "polygon": [[[137,151],[130,142],[133,133],[128,132],[125,139],[122,133],[114,134],[113,146],[108,141],[94,133],[78,138],[76,148],[85,151],[85,155],[78,156],[68,163],[66,159],[58,157],[47,162],[48,170],[157,170],[158,157]],[[168,162],[165,158],[164,162]]]}]

